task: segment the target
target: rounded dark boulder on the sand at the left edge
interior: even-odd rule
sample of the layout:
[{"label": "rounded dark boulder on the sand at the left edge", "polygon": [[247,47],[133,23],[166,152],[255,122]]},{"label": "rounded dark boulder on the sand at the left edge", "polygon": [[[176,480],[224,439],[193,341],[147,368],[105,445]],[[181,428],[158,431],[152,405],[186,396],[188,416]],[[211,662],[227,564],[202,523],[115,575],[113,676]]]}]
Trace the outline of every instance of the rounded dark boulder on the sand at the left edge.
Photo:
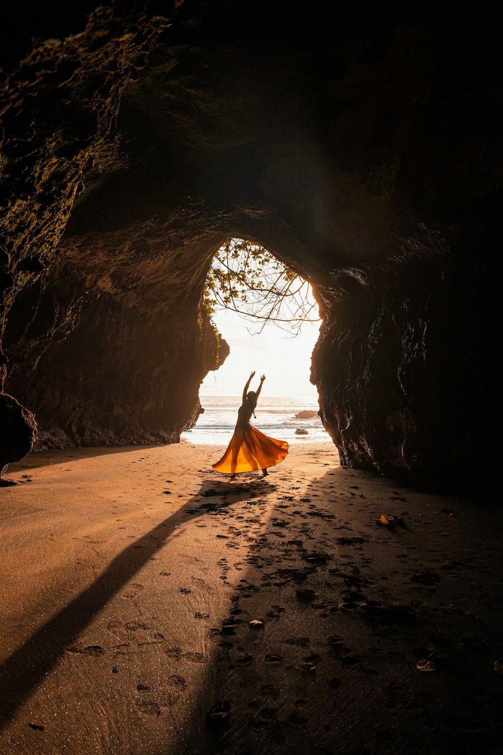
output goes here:
[{"label": "rounded dark boulder on the sand at the left edge", "polygon": [[7,464],[19,461],[32,450],[37,423],[26,409],[8,393],[0,393],[0,476]]}]

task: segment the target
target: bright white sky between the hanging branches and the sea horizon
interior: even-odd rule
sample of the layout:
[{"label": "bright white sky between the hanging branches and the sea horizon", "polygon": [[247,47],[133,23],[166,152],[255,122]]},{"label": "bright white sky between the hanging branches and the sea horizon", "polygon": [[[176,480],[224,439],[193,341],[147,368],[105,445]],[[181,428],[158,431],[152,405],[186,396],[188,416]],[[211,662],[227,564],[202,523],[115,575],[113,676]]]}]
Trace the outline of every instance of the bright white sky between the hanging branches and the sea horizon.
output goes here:
[{"label": "bright white sky between the hanging branches and the sea horizon", "polygon": [[272,324],[265,325],[260,335],[250,335],[247,328],[256,332],[256,323],[230,310],[216,311],[213,322],[231,347],[231,353],[219,370],[204,378],[201,396],[241,396],[250,372],[255,370],[250,390],[259,387],[260,376],[265,374],[262,396],[317,399],[309,372],[321,322],[303,323],[296,337]]}]

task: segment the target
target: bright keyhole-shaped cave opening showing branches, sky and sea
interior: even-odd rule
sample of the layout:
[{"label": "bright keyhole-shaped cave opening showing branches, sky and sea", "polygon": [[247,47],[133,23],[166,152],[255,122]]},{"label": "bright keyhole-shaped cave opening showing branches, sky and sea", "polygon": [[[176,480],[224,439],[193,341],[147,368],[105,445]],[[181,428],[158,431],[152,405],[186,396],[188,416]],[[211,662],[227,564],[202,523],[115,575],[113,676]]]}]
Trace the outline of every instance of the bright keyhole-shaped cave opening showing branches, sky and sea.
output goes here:
[{"label": "bright keyhole-shaped cave opening showing branches, sky and sea", "polygon": [[250,371],[266,380],[257,422],[288,442],[327,441],[311,383],[311,355],[321,317],[311,285],[252,240],[232,237],[216,251],[204,308],[230,352],[201,383],[204,411],[182,433],[193,443],[228,439]]}]

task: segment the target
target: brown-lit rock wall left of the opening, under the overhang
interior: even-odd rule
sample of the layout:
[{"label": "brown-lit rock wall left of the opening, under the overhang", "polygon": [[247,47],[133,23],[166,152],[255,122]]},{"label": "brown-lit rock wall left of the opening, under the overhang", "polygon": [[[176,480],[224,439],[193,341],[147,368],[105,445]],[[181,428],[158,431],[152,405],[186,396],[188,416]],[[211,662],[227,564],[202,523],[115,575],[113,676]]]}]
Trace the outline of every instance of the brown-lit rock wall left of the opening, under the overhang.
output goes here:
[{"label": "brown-lit rock wall left of the opening, under the overhang", "polygon": [[149,230],[132,246],[74,242],[14,304],[8,384],[37,407],[37,448],[177,442],[195,424],[198,387],[228,346],[200,307],[201,260]]}]

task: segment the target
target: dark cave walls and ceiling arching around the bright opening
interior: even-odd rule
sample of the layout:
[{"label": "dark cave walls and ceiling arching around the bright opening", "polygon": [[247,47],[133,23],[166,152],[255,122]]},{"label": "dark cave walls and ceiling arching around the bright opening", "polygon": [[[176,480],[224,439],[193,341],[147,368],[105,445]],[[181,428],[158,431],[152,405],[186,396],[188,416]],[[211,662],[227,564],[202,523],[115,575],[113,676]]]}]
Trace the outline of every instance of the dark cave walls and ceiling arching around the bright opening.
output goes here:
[{"label": "dark cave walls and ceiling arching around the bright opening", "polygon": [[241,236],[314,285],[312,377],[345,463],[452,485],[471,461],[465,399],[492,390],[490,19],[341,6],[334,25],[329,5],[100,11],[11,80],[6,385],[42,442],[170,441],[195,421],[225,356],[204,276]]}]

